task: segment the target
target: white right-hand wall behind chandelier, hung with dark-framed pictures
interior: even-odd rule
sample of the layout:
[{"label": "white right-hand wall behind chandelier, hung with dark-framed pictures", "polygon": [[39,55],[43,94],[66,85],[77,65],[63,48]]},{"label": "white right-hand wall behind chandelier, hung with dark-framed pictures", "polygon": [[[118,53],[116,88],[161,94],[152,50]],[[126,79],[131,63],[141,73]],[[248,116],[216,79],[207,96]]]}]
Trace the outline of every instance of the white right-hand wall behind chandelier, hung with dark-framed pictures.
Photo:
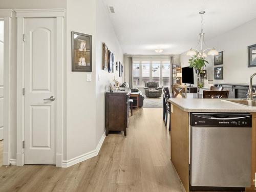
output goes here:
[{"label": "white right-hand wall behind chandelier, hung with dark-framed pictures", "polygon": [[[208,46],[214,46],[218,51],[223,51],[223,80],[214,80],[214,83],[249,83],[249,77],[256,73],[255,68],[248,68],[247,47],[256,44],[255,38],[256,18],[234,28],[224,34],[206,41]],[[207,34],[206,34],[207,35]],[[188,66],[186,53],[180,55],[182,67]],[[208,56],[208,79],[214,79],[213,57]],[[254,79],[256,82],[256,79]]]}]

